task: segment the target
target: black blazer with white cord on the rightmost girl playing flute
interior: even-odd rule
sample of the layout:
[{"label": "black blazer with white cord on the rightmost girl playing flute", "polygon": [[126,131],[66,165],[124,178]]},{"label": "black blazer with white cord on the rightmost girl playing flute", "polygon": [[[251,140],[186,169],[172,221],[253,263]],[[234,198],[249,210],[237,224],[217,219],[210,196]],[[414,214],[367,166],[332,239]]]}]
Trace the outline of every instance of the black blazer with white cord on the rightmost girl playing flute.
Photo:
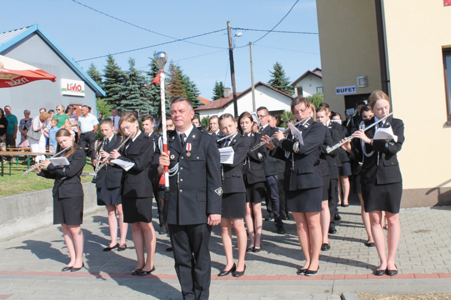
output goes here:
[{"label": "black blazer with white cord on the rightmost girl playing flute", "polygon": [[[364,121],[365,127],[374,123],[374,118]],[[401,171],[399,170],[399,163],[396,153],[401,150],[402,143],[404,143],[404,123],[400,119],[395,119],[392,116],[388,117],[383,127],[392,127],[393,133],[398,137],[395,141],[373,140],[373,146],[365,144],[366,152],[374,153],[369,157],[364,157],[361,178],[362,184],[377,183],[399,183],[402,182]],[[376,128],[368,129],[365,134],[372,139]],[[362,146],[360,139],[352,140],[352,150],[350,157],[362,161],[363,158]],[[378,159],[379,157],[379,159]]]}]

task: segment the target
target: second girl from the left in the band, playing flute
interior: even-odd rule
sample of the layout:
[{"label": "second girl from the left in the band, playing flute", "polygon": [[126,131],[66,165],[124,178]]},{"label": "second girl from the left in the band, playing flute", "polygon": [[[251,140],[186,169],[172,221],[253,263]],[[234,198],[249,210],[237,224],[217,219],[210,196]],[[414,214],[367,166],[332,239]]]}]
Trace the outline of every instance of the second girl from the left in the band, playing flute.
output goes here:
[{"label": "second girl from the left in the band, playing flute", "polygon": [[[100,123],[100,130],[104,138],[97,141],[96,153],[93,165],[97,170],[97,205],[105,205],[108,212],[108,225],[110,226],[111,242],[104,251],[110,251],[117,248],[117,251],[123,251],[127,248],[125,239],[127,236],[128,224],[124,223],[122,213],[122,204],[120,198],[120,183],[122,180],[122,168],[113,164],[106,164],[102,169],[97,169],[97,165],[110,157],[110,152],[119,147],[122,139],[113,132],[113,120],[103,119]],[[113,165],[113,166],[112,166]],[[116,211],[119,216],[120,243],[117,243],[117,219]]]}]

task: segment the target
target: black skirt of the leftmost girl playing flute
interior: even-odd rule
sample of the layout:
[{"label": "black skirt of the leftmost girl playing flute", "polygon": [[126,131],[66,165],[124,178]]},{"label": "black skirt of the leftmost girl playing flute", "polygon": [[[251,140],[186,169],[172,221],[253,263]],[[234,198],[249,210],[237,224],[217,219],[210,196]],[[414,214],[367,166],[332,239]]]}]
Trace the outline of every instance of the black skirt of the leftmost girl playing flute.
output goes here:
[{"label": "black skirt of the leftmost girl playing flute", "polygon": [[83,223],[83,197],[53,199],[53,223],[80,225]]}]

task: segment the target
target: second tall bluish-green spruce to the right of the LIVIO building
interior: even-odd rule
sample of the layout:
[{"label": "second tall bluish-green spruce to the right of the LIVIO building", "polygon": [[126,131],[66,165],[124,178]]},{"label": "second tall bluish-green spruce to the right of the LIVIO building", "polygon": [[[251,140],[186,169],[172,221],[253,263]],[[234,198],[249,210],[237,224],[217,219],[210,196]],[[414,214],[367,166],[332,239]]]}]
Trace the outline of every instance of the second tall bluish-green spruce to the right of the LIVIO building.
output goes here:
[{"label": "second tall bluish-green spruce to the right of the LIVIO building", "polygon": [[146,78],[141,71],[135,68],[135,60],[128,59],[129,69],[127,72],[126,83],[126,97],[119,105],[121,111],[138,110],[141,114],[148,114],[152,109],[150,101],[147,100],[147,95],[144,85]]}]

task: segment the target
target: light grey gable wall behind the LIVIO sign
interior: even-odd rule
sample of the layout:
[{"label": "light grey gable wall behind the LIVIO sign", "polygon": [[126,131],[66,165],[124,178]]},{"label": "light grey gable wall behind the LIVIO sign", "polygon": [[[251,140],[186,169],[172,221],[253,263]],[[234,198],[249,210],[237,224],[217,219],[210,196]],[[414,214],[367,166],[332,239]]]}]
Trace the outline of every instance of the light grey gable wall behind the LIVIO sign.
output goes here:
[{"label": "light grey gable wall behind the LIVIO sign", "polygon": [[[96,96],[85,82],[85,97],[61,95],[61,79],[82,80],[38,35],[4,51],[2,55],[14,58],[40,68],[56,76],[56,82],[39,80],[19,87],[0,89],[1,106],[10,105],[17,119],[23,119],[23,111],[29,109],[31,117],[39,114],[41,107],[54,109],[62,104],[86,104],[96,115]],[[17,135],[20,142],[20,133]]]}]

